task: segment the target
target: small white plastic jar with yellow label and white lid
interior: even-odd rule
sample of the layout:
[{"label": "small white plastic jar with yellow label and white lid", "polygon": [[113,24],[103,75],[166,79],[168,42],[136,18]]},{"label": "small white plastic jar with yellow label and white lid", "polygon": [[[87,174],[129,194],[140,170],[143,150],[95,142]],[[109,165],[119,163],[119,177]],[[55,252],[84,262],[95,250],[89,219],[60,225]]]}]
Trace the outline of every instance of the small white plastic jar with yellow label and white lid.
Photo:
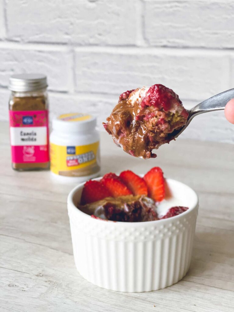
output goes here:
[{"label": "small white plastic jar with yellow label and white lid", "polygon": [[52,121],[51,172],[61,181],[83,182],[100,174],[96,118],[71,113]]}]

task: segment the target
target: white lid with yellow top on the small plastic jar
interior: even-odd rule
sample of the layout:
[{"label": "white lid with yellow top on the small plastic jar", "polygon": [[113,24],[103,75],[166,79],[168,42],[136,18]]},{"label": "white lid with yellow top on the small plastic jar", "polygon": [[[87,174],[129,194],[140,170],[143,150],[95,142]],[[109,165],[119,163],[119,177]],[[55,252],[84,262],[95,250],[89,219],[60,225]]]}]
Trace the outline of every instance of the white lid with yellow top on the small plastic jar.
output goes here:
[{"label": "white lid with yellow top on the small plastic jar", "polygon": [[94,130],[96,124],[96,117],[81,113],[63,114],[52,120],[53,130],[66,133]]}]

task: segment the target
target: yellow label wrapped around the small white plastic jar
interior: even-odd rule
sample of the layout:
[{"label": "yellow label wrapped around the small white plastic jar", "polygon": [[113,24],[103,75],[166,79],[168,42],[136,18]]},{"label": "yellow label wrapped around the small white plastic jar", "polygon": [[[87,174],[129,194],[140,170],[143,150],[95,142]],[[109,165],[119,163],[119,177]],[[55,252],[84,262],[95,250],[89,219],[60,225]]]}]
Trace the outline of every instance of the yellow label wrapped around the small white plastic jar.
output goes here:
[{"label": "yellow label wrapped around the small white plastic jar", "polygon": [[82,177],[100,170],[99,142],[81,146],[50,144],[51,171],[68,176]]}]

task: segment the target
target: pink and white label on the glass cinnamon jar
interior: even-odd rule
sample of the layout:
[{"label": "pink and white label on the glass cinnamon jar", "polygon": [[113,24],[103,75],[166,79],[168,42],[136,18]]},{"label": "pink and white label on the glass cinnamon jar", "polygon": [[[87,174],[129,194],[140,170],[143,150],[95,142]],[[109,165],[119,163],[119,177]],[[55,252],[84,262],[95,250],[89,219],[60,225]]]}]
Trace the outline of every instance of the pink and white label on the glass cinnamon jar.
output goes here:
[{"label": "pink and white label on the glass cinnamon jar", "polygon": [[48,111],[9,111],[13,163],[49,161]]}]

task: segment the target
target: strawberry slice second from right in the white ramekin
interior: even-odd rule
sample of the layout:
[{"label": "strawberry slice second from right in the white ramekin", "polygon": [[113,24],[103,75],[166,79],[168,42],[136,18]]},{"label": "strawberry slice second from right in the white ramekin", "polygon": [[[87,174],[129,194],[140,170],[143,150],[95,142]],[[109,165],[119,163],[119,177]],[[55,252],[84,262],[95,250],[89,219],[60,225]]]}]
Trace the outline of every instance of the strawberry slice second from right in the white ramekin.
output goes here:
[{"label": "strawberry slice second from right in the white ramekin", "polygon": [[129,188],[133,195],[148,195],[147,184],[143,178],[131,170],[126,170],[120,173],[119,178]]}]

